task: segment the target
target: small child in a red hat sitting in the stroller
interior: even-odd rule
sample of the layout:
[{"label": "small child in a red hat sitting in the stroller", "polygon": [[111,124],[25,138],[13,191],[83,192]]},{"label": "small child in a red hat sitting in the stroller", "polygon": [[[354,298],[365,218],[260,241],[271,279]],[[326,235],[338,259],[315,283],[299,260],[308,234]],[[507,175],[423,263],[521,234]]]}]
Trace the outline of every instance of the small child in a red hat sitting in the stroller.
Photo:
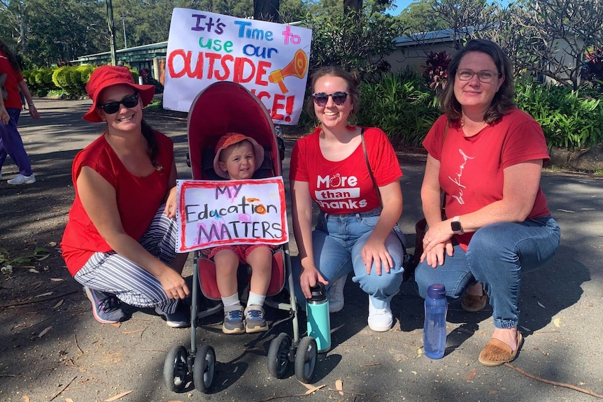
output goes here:
[{"label": "small child in a red hat sitting in the stroller", "polygon": [[[264,149],[257,141],[239,133],[226,133],[215,147],[213,169],[228,180],[250,179],[264,160]],[[269,245],[222,245],[204,250],[215,263],[216,282],[224,306],[224,333],[255,333],[268,330],[264,301],[272,273],[272,247]],[[239,300],[237,270],[239,261],[248,264],[252,275],[247,307]]]}]

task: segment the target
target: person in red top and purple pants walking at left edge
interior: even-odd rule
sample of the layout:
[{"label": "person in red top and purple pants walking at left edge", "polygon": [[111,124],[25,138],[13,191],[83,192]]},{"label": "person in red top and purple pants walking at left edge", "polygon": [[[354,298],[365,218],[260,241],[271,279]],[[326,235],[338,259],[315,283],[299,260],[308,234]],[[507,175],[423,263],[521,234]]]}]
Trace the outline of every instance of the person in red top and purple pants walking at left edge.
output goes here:
[{"label": "person in red top and purple pants walking at left edge", "polygon": [[34,119],[40,118],[40,113],[31,99],[31,93],[27,87],[27,82],[21,76],[21,68],[3,41],[0,41],[0,75],[6,73],[6,100],[0,96],[0,179],[2,178],[1,169],[6,161],[6,157],[13,159],[19,173],[12,179],[7,180],[10,185],[30,185],[36,182],[36,176],[31,171],[31,162],[25,151],[23,140],[17,129],[19,117],[21,114],[21,96],[29,104],[29,115]]}]

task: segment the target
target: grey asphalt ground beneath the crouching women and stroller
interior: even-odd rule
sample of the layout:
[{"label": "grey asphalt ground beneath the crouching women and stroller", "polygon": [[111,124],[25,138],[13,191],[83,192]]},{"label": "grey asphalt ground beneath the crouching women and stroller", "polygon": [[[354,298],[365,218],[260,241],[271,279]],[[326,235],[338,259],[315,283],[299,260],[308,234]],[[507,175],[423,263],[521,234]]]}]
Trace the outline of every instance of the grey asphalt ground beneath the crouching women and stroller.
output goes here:
[{"label": "grey asphalt ground beneath the crouching women and stroller", "polygon": [[[8,228],[14,238],[20,238],[21,232],[38,230],[36,225],[44,220],[48,220],[44,230],[54,236],[62,231],[73,197],[71,161],[102,128],[80,119],[90,101],[36,99],[36,105],[43,118],[34,122],[24,113],[20,131],[38,183],[8,189],[3,182],[0,195],[4,205],[20,203],[27,194],[44,188],[53,196],[48,199],[47,210],[36,212],[36,219],[30,219],[32,212],[27,208],[11,213],[17,215],[13,216],[16,223]],[[180,178],[190,178],[185,165],[185,120],[157,115],[148,115],[147,120],[173,138]],[[292,141],[288,141],[288,152],[291,147]],[[423,168],[406,165],[404,155],[401,164],[404,213],[400,225],[413,244],[413,224],[421,215]],[[286,178],[288,158],[283,166]],[[14,165],[7,161],[4,179],[14,171]],[[0,364],[0,399],[107,401],[129,392],[116,400],[595,401],[595,396],[555,383],[603,394],[603,181],[546,171],[541,184],[562,228],[562,245],[550,266],[523,278],[520,330],[525,343],[513,366],[525,373],[509,366],[486,368],[478,364],[478,354],[493,327],[489,306],[481,313],[469,314],[460,309],[460,303],[451,303],[446,354],[443,359],[430,360],[421,353],[423,304],[410,283],[402,284],[392,301],[394,328],[374,333],[367,326],[367,297],[348,280],[346,306],[332,315],[332,350],[316,366],[313,385],[325,387],[304,396],[306,387],[297,382],[292,369],[282,380],[269,375],[269,342],[279,332],[291,333],[289,321],[259,336],[226,336],[219,329],[220,315],[215,315],[197,330],[197,343],[211,345],[216,352],[213,387],[208,394],[191,385],[173,393],[163,384],[165,354],[174,344],[190,344],[190,329],[169,329],[156,315],[134,309],[129,310],[132,318],[119,327],[98,324],[90,313],[90,303],[78,292],[69,296],[70,303],[61,313],[69,315],[69,322],[55,324],[43,338],[36,334],[44,324],[28,329],[31,340],[20,345],[10,344],[14,336],[2,335],[0,342],[8,342],[8,347],[4,344],[0,349],[4,361]],[[2,220],[7,217],[5,213],[0,210]],[[8,229],[0,224],[0,230]],[[69,280],[62,265],[50,269]],[[190,264],[185,272],[190,275]],[[2,279],[9,283],[6,277]],[[270,311],[268,315],[277,322],[285,318],[282,312]],[[17,331],[16,324],[8,319],[0,324],[10,327],[5,327],[5,332]],[[301,318],[300,324],[305,328]],[[19,371],[21,359],[40,363]],[[15,372],[18,375],[12,374]],[[336,380],[343,382],[343,395],[335,390]]]}]

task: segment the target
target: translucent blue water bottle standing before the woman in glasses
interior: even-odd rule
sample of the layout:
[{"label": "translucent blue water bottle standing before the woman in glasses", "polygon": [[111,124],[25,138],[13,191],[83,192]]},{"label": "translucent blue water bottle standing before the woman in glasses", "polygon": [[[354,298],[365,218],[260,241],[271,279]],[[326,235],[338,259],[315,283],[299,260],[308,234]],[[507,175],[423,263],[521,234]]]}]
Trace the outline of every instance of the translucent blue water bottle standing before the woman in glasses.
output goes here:
[{"label": "translucent blue water bottle standing before the woman in glasses", "polygon": [[423,325],[423,348],[425,356],[441,359],[446,350],[446,287],[434,284],[427,288],[425,298],[425,324]]}]

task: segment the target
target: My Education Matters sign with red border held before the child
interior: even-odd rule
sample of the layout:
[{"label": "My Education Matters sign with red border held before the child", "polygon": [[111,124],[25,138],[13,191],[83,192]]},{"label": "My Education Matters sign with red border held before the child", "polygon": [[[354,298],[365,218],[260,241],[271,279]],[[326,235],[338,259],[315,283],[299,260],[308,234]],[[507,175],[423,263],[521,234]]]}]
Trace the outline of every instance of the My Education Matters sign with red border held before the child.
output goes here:
[{"label": "My Education Matters sign with red border held before the child", "polygon": [[177,180],[176,252],[289,241],[283,178]]}]

